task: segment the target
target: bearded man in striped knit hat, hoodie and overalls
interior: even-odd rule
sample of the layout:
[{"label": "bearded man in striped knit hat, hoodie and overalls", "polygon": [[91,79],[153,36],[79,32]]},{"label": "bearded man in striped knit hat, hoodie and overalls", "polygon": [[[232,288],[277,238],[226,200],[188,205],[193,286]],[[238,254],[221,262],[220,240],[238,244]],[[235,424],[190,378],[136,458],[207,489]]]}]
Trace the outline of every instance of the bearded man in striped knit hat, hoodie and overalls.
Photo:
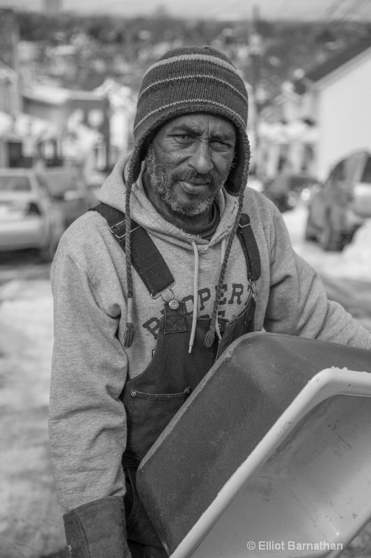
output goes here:
[{"label": "bearded man in striped knit hat, hoodie and overalls", "polygon": [[131,158],[58,247],[49,432],[73,558],[166,556],[136,468],[239,335],[264,326],[371,347],[274,205],[246,188],[246,121],[224,54],[162,56],[143,77]]}]

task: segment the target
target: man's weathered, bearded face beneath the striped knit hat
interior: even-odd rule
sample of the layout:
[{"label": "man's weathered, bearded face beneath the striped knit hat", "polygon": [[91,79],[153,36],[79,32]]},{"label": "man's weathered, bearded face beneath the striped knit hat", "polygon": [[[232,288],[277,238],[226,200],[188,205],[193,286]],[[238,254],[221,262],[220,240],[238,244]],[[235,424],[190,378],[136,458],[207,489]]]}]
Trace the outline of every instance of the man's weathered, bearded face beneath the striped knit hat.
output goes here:
[{"label": "man's weathered, bearded face beneath the striped knit hat", "polygon": [[226,182],[235,142],[233,124],[213,114],[186,114],[166,122],[145,159],[157,198],[183,216],[207,211]]}]

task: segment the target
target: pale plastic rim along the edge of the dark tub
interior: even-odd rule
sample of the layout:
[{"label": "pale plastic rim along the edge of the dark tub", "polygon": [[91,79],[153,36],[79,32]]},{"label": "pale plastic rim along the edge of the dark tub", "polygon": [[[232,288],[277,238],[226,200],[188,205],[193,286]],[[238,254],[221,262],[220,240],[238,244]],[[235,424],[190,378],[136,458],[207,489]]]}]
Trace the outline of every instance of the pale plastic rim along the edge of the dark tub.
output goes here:
[{"label": "pale plastic rim along the edge of the dark tub", "polygon": [[276,448],[311,409],[333,395],[371,397],[371,373],[341,368],[326,368],[318,372],[301,390],[285,412],[278,418],[248,458],[235,471],[205,510],[194,527],[177,546],[170,558],[189,558],[212,527],[232,504],[244,485],[251,481]]}]

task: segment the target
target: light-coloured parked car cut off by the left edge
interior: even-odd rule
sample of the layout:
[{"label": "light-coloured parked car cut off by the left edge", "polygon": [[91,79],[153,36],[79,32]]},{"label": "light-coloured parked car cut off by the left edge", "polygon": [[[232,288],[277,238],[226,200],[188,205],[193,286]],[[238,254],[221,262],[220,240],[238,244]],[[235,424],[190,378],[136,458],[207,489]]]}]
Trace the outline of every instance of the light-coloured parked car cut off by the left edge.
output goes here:
[{"label": "light-coloured parked car cut off by the left edge", "polygon": [[52,259],[63,214],[31,169],[0,169],[0,251],[35,248]]}]

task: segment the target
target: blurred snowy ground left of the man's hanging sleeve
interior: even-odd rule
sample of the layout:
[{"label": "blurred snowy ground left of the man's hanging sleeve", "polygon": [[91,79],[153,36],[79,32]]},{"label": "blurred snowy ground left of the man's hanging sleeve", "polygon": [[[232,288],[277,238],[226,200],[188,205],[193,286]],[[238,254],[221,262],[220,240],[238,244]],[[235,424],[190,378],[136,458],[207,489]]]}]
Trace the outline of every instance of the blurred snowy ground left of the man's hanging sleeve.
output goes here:
[{"label": "blurred snowy ground left of the man's hanging sleeve", "polygon": [[48,280],[0,287],[1,558],[39,558],[65,546],[49,462],[53,343]]}]

